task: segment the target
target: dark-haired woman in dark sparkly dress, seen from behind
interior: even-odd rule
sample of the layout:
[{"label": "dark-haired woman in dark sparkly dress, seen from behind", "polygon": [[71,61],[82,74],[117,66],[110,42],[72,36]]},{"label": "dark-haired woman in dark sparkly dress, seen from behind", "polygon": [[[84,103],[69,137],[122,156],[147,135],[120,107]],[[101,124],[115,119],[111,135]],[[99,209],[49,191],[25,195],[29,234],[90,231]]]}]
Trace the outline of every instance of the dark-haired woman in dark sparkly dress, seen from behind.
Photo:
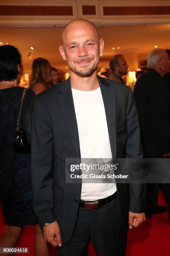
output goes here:
[{"label": "dark-haired woman in dark sparkly dress, seen from behind", "polygon": [[[30,154],[17,154],[15,128],[24,88],[17,87],[21,56],[14,46],[0,47],[0,202],[5,217],[5,232],[0,247],[14,247],[25,225],[37,224],[32,208]],[[35,94],[27,90],[20,126],[31,143],[31,116]],[[36,232],[35,255],[47,256],[46,242]],[[5,254],[6,255],[6,254]]]}]

